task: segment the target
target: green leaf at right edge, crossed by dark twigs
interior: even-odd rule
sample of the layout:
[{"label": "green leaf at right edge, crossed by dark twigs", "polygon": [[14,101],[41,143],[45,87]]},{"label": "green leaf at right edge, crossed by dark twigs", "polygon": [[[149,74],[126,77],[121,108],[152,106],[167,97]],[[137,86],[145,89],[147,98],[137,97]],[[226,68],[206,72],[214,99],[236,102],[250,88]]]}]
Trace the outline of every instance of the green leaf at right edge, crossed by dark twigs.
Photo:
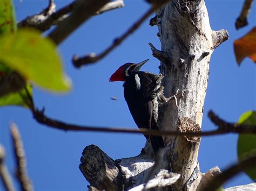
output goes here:
[{"label": "green leaf at right edge, crossed by dark twigs", "polygon": [[[256,126],[256,111],[247,111],[239,118],[238,124]],[[244,159],[256,152],[256,135],[239,135],[238,137],[238,160]],[[256,168],[245,171],[248,176],[256,181]]]}]

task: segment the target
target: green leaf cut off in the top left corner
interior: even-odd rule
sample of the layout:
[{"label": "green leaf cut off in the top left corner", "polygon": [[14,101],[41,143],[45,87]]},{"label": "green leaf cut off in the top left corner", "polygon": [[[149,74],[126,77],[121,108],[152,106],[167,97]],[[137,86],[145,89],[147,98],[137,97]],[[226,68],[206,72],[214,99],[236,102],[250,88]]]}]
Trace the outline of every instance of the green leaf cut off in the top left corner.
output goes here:
[{"label": "green leaf cut off in the top left corner", "polygon": [[0,34],[14,33],[17,30],[12,0],[0,0]]}]

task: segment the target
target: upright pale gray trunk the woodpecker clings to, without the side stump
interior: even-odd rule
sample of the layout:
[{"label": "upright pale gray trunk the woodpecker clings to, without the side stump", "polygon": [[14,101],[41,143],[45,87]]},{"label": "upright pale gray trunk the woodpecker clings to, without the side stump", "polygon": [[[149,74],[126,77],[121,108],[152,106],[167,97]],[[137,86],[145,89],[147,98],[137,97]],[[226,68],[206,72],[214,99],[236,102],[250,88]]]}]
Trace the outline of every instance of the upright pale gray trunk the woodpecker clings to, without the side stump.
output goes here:
[{"label": "upright pale gray trunk the woodpecker clings to, without the side stump", "polygon": [[[161,59],[158,53],[160,72],[165,76],[165,95],[171,96],[177,89],[186,91],[178,100],[178,107],[171,103],[159,109],[159,126],[166,130],[200,130],[211,54],[227,40],[227,31],[211,30],[205,3],[200,0],[174,0],[157,11],[154,20],[165,58]],[[169,152],[172,171],[181,174],[174,189],[195,190],[200,181],[197,162],[200,138],[165,137],[165,143],[172,145]]]}]

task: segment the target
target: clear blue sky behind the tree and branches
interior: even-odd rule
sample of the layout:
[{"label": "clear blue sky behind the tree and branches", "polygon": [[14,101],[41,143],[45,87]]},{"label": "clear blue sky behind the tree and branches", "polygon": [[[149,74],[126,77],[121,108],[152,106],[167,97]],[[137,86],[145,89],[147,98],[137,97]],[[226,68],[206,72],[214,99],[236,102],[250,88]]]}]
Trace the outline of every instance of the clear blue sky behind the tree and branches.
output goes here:
[{"label": "clear blue sky behind the tree and branches", "polygon": [[[69,3],[56,0],[57,8]],[[238,0],[206,0],[212,30],[226,29],[230,39],[215,49],[210,62],[210,79],[205,99],[202,129],[215,126],[207,117],[212,109],[230,122],[238,120],[247,110],[256,110],[256,68],[245,59],[238,67],[233,53],[233,40],[250,31],[256,23],[255,4],[248,18],[249,26],[235,30],[234,22],[242,3]],[[17,19],[41,11],[48,1],[15,1]],[[123,34],[146,10],[144,1],[125,1],[122,9],[106,12],[91,18],[79,27],[58,48],[66,73],[73,82],[69,94],[57,95],[35,88],[34,100],[38,108],[45,107],[45,114],[80,125],[123,126],[137,129],[123,97],[122,82],[109,83],[111,74],[125,62],[150,59],[143,70],[159,73],[159,61],[151,55],[148,43],[160,49],[157,27],[149,20],[139,30],[96,65],[76,69],[71,64],[73,54],[99,53],[112,40]],[[153,15],[152,15],[153,17]],[[111,97],[117,100],[111,100]],[[15,122],[23,138],[29,176],[36,190],[86,190],[88,182],[78,169],[80,155],[87,145],[99,146],[113,159],[139,154],[145,144],[143,135],[121,133],[64,132],[38,124],[31,112],[19,107],[0,108],[0,143],[6,149],[6,163],[14,176],[15,163],[8,125]],[[237,135],[203,137],[199,150],[200,171],[219,166],[221,169],[237,161]],[[228,181],[225,187],[250,183],[244,173]],[[2,189],[0,183],[0,190]]]}]

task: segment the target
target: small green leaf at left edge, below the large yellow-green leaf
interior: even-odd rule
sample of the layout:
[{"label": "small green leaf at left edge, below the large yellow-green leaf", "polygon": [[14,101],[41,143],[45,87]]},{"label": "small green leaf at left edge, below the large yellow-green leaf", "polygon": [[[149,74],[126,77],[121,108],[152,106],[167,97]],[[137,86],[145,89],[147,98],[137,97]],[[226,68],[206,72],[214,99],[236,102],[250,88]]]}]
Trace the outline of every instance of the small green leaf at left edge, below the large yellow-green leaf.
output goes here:
[{"label": "small green leaf at left edge, below the large yellow-green leaf", "polygon": [[[26,85],[26,89],[28,90],[29,94],[32,96],[32,86],[31,84]],[[19,92],[10,93],[8,95],[5,95],[3,97],[0,97],[0,107],[6,106],[6,105],[21,105],[23,107],[28,108],[28,104],[30,104],[30,98],[28,94],[26,93],[25,88],[23,88]]]}]

